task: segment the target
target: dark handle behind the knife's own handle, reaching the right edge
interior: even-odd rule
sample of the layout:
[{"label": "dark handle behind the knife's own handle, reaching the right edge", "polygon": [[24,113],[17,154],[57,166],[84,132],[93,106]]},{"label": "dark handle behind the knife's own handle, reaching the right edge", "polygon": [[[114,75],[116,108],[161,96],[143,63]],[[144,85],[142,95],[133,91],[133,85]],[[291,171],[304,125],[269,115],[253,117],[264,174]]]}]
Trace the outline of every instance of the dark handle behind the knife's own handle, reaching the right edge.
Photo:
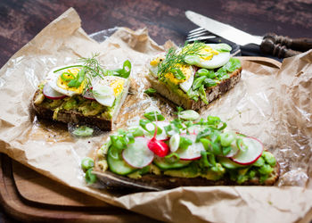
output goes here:
[{"label": "dark handle behind the knife's own handle, reaching the right edge", "polygon": [[290,38],[267,33],[264,38],[271,38],[275,44],[286,45],[287,48],[306,52],[312,49],[312,38]]}]

